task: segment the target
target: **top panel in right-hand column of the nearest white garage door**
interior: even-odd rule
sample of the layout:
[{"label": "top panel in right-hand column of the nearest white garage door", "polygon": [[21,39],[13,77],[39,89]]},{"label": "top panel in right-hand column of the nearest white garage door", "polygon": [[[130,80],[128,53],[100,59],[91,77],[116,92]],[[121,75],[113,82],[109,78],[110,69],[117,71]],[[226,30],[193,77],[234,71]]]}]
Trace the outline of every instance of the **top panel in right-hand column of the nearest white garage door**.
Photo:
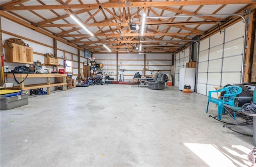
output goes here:
[{"label": "top panel in right-hand column of the nearest white garage door", "polygon": [[225,42],[244,36],[244,23],[238,22],[225,30]]}]

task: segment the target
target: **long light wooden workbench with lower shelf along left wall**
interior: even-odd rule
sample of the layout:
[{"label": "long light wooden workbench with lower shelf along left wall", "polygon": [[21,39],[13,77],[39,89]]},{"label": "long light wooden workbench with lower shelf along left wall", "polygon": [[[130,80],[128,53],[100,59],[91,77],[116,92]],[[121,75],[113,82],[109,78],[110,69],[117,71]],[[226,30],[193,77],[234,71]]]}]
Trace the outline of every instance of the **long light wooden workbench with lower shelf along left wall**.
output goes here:
[{"label": "long light wooden workbench with lower shelf along left wall", "polygon": [[[12,73],[7,73],[7,78],[14,78]],[[20,87],[19,89],[22,89],[22,91],[24,92],[24,90],[28,90],[28,89],[38,89],[38,88],[44,88],[47,87],[47,94],[50,94],[50,87],[53,86],[59,86],[59,85],[67,85],[66,82],[66,77],[68,76],[68,74],[14,74],[15,78],[18,80],[19,78],[19,82],[22,82],[26,76],[28,75],[27,78],[46,78],[47,83],[40,83],[40,84],[32,84],[32,85],[25,85],[24,82],[20,83]],[[50,78],[51,77],[63,77],[63,83],[50,83]],[[63,86],[64,91],[67,90],[66,86]]]}]

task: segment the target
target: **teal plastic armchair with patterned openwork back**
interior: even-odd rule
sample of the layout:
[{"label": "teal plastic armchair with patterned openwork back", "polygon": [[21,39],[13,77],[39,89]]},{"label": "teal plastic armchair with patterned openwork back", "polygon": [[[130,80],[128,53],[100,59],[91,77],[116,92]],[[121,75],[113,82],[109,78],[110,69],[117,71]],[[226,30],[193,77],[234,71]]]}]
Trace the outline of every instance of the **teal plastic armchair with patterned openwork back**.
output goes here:
[{"label": "teal plastic armchair with patterned openwork back", "polygon": [[[221,93],[222,91],[226,91],[223,95],[223,98],[217,99],[212,97],[212,93]],[[210,90],[208,93],[208,102],[206,113],[208,113],[209,102],[215,103],[218,105],[218,119],[221,119],[222,113],[224,113],[224,107],[222,104],[228,104],[234,106],[235,97],[242,92],[242,87],[237,85],[230,85],[227,87],[223,87],[219,90]]]}]

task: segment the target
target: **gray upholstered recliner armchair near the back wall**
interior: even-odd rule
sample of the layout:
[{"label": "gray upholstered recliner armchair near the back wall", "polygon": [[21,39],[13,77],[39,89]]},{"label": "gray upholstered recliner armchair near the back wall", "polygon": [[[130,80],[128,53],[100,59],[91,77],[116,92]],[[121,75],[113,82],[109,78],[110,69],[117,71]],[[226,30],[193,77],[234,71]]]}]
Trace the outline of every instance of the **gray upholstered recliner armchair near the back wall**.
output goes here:
[{"label": "gray upholstered recliner armchair near the back wall", "polygon": [[164,85],[166,82],[166,74],[156,74],[155,79],[148,82],[148,89],[164,89]]}]

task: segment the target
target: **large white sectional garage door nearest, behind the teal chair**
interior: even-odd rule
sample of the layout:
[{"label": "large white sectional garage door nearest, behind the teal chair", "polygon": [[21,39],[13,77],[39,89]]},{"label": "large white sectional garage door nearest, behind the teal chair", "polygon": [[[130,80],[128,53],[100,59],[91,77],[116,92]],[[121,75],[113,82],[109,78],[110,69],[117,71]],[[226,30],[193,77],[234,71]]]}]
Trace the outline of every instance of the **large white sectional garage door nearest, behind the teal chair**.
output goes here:
[{"label": "large white sectional garage door nearest, behind the teal chair", "polygon": [[200,42],[197,93],[208,95],[214,87],[240,83],[243,45],[243,22]]}]

